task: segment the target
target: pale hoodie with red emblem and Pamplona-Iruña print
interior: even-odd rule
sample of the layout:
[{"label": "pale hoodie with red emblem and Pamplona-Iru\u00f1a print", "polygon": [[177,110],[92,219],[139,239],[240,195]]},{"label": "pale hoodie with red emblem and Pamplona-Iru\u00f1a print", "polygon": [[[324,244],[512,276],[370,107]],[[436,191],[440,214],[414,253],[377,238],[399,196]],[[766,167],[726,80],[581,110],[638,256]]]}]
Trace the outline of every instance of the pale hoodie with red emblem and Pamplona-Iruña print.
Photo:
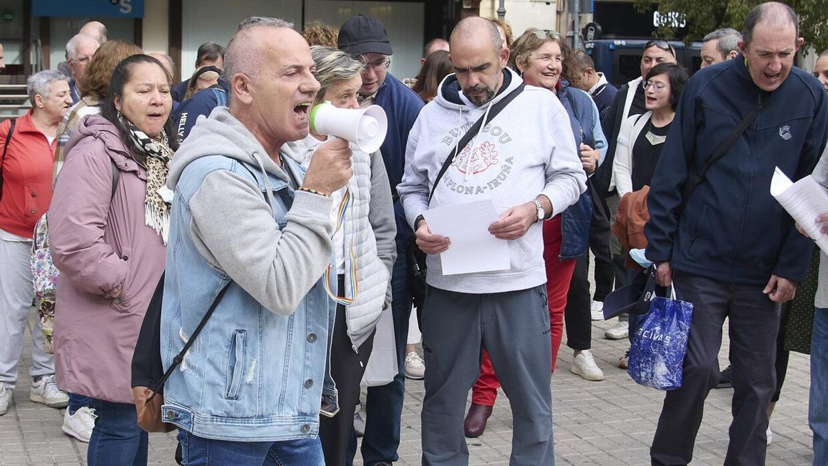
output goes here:
[{"label": "pale hoodie with red emblem and Pamplona-Iru\u00f1a print", "polygon": [[[440,83],[440,93],[423,107],[409,133],[405,174],[397,186],[409,225],[413,227],[416,216],[429,208],[470,201],[491,199],[499,215],[542,194],[551,201],[555,216],[578,200],[586,189],[586,173],[569,116],[551,91],[527,85],[500,114],[488,119],[491,105],[521,83],[520,76],[507,68],[506,89],[482,106],[470,104],[460,94],[455,75]],[[483,129],[465,148],[456,147],[480,117],[485,119]],[[437,173],[455,149],[457,157],[429,203]],[[476,294],[528,289],[546,282],[540,223],[508,241],[508,248],[509,269],[475,274],[443,275],[440,257],[429,255],[426,281],[439,289]]]}]

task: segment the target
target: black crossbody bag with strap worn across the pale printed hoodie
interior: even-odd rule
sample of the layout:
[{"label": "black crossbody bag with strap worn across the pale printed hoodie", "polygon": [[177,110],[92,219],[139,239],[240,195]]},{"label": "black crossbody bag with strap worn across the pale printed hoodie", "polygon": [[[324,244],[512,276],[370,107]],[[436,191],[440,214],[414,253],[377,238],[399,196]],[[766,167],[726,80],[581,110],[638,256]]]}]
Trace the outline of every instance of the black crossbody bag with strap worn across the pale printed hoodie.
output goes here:
[{"label": "black crossbody bag with strap worn across the pale printed hoodie", "polygon": [[[487,121],[491,122],[494,117],[509,104],[509,102],[514,100],[517,95],[523,92],[524,87],[526,87],[526,85],[519,85],[517,89],[504,96],[503,99],[501,99],[497,104],[494,104],[492,109],[489,110],[489,119]],[[449,169],[449,166],[454,161],[457,154],[460,153],[460,149],[465,148],[466,145],[471,142],[471,139],[480,132],[480,128],[483,126],[484,117],[485,114],[474,122],[474,125],[466,131],[463,138],[460,138],[460,143],[458,143],[449,153],[448,157],[445,158],[443,167],[440,168],[440,172],[437,173],[437,177],[434,179],[434,184],[431,186],[431,192],[428,195],[429,203],[431,203],[431,197],[434,196],[437,184],[445,174],[445,171]],[[418,311],[421,311],[423,300],[426,298],[426,272],[428,271],[426,268],[426,253],[422,252],[422,250],[420,250],[420,248],[416,245],[416,240],[412,240],[411,244],[408,245],[406,258],[408,269],[408,289],[411,291],[412,303],[414,304],[414,307],[417,308]]]}]

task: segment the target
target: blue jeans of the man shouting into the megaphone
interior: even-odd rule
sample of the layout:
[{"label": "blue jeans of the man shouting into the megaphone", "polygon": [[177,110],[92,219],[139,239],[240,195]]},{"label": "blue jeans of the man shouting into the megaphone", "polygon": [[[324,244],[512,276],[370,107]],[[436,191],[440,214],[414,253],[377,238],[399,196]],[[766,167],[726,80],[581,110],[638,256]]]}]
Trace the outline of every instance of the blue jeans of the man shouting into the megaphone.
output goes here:
[{"label": "blue jeans of the man shouting into the megaphone", "polygon": [[181,442],[181,464],[185,466],[325,465],[319,437],[282,442],[234,442],[204,439],[180,429],[178,441]]}]

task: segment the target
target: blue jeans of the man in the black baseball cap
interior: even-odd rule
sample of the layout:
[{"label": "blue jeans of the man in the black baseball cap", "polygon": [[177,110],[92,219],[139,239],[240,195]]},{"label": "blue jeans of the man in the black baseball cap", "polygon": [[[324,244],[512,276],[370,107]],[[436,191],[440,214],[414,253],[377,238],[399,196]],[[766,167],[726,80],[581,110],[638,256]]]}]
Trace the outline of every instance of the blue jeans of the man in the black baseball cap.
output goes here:
[{"label": "blue jeans of the man in the black baseball cap", "polygon": [[[399,228],[399,225],[397,225]],[[402,401],[406,395],[406,340],[408,318],[412,312],[411,291],[408,288],[407,242],[397,238],[397,261],[391,275],[391,312],[394,318],[394,339],[397,343],[397,366],[400,371],[388,385],[369,386],[365,400],[365,435],[362,457],[365,466],[387,461],[397,461],[400,446],[400,418]],[[356,434],[351,430],[351,442],[345,464],[353,464],[357,449]]]}]

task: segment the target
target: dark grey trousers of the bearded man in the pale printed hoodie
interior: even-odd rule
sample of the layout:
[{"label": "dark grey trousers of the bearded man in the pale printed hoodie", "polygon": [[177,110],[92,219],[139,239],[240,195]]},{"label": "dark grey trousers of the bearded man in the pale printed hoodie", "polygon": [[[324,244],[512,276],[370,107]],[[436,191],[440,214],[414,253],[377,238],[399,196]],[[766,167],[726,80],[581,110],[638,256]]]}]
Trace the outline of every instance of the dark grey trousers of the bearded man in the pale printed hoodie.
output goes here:
[{"label": "dark grey trousers of the bearded man in the pale printed hoodie", "polygon": [[512,405],[511,465],[555,464],[546,285],[493,294],[428,287],[422,312],[426,396],[422,464],[469,464],[465,400],[489,352]]}]

